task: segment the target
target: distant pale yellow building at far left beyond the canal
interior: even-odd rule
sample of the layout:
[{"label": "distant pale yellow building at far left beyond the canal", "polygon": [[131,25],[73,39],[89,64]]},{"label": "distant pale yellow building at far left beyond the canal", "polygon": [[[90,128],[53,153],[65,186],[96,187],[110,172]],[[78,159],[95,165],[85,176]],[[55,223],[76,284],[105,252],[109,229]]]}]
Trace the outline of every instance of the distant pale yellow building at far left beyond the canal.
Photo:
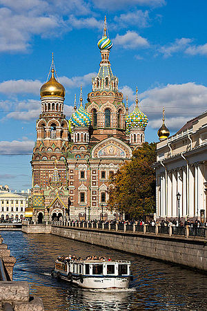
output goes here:
[{"label": "distant pale yellow building at far left beyond the canal", "polygon": [[21,220],[25,216],[28,198],[11,192],[0,194],[0,217],[3,220]]}]

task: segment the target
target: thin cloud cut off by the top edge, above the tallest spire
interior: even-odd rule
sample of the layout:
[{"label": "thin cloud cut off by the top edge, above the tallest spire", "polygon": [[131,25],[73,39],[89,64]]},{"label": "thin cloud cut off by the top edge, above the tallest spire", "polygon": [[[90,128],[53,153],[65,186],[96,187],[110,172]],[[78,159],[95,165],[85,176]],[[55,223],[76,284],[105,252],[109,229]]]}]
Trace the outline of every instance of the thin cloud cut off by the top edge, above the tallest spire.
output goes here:
[{"label": "thin cloud cut off by the top edge, above the tallest spire", "polygon": [[163,6],[166,0],[92,0],[97,8],[106,10],[118,10],[129,6]]}]

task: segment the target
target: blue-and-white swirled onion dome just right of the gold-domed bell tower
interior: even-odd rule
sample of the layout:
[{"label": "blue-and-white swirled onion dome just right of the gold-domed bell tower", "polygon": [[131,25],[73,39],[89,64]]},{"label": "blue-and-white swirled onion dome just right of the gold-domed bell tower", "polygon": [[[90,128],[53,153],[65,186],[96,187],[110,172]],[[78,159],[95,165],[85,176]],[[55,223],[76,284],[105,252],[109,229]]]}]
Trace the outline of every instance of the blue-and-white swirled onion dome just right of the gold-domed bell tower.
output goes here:
[{"label": "blue-and-white swirled onion dome just right of the gold-domed bell tower", "polygon": [[82,97],[82,87],[81,87],[81,97],[79,109],[72,113],[70,117],[70,127],[71,126],[89,126],[91,123],[90,114],[83,108],[83,97]]}]

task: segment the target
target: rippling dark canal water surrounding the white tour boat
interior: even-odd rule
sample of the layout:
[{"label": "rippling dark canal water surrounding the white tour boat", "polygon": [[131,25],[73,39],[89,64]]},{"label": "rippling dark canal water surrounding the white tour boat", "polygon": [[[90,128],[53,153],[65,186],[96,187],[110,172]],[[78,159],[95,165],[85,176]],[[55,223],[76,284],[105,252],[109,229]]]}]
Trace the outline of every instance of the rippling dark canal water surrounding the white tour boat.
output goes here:
[{"label": "rippling dark canal water surrounding the white tour boat", "polygon": [[[183,267],[152,261],[112,249],[52,235],[2,232],[17,258],[14,281],[28,281],[30,293],[43,299],[45,310],[205,310],[207,277]],[[82,290],[50,276],[59,254],[104,255],[132,263],[134,281],[124,291]]]}]

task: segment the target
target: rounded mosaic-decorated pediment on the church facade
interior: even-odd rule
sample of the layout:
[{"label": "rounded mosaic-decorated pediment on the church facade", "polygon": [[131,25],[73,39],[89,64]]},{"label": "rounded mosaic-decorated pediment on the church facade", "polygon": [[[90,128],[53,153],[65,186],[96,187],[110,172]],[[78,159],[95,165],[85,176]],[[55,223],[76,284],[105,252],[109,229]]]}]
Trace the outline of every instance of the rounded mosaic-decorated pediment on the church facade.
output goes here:
[{"label": "rounded mosaic-decorated pediment on the church facade", "polygon": [[117,138],[102,140],[92,149],[92,158],[131,158],[132,150]]}]

